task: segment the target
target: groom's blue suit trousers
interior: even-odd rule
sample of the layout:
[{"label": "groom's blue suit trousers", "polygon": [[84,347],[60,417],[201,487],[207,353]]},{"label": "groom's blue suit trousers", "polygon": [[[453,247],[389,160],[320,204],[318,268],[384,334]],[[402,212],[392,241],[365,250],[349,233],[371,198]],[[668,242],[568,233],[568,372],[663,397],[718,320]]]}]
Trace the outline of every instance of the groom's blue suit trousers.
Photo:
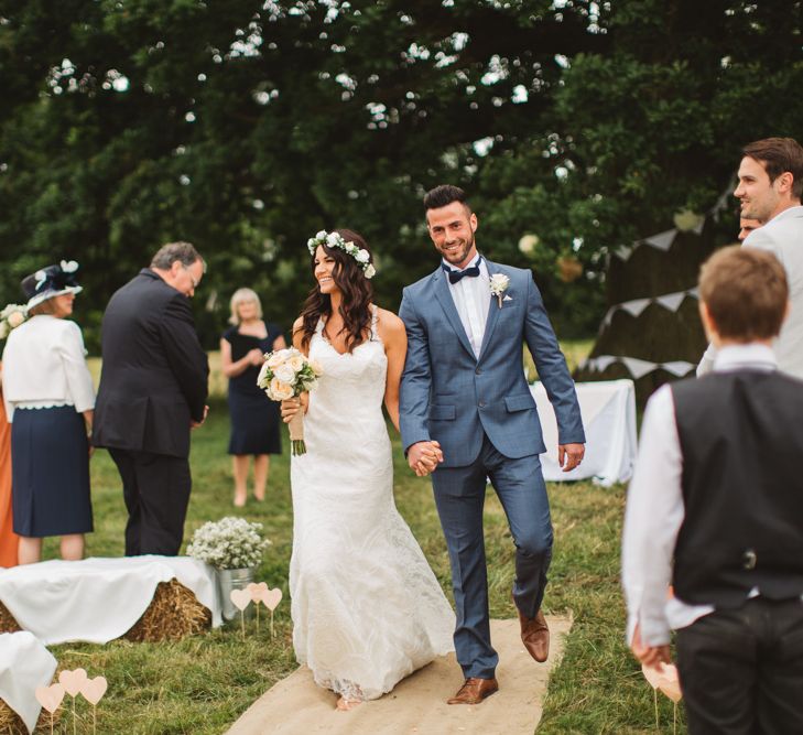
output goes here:
[{"label": "groom's blue suit trousers", "polygon": [[517,607],[534,617],[541,607],[552,559],[552,522],[538,454],[511,460],[486,436],[466,467],[438,467],[432,475],[435,504],[452,564],[457,661],[468,679],[491,679],[499,657],[490,642],[488,574],[482,532],[486,479],[490,478],[516,544]]}]

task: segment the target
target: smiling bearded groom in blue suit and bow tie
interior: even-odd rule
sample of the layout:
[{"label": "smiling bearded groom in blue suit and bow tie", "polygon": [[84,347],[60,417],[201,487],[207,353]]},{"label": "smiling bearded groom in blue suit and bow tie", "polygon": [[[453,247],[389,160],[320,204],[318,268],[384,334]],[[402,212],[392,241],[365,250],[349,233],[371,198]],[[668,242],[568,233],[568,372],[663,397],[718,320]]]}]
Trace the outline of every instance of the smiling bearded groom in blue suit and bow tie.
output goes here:
[{"label": "smiling bearded groom in blue suit and bow tie", "polygon": [[[434,273],[404,289],[408,332],[401,434],[408,461],[432,485],[446,537],[457,608],[455,649],[465,683],[449,704],[496,692],[482,536],[486,478],[496,488],[516,543],[513,601],[521,638],[536,661],[549,655],[541,612],[552,558],[552,525],[539,454],[546,451],[522,364],[527,343],[555,410],[564,471],[583,460],[585,435],[574,382],[529,270],[477,252],[477,216],[463,190],[424,197],[430,237],[442,256]],[[433,467],[431,457],[443,452]]]}]

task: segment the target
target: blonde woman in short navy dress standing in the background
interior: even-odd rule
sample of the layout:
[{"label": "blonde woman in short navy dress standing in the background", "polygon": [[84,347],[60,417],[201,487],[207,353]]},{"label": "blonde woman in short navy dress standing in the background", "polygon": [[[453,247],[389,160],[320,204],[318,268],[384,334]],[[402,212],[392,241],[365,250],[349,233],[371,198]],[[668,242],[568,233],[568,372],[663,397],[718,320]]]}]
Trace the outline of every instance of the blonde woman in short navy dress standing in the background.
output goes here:
[{"label": "blonde woman in short navy dress standing in the background", "polygon": [[264,500],[271,454],[281,454],[279,403],[257,387],[264,354],[286,347],[281,327],[262,321],[262,305],[251,289],[231,296],[232,326],[220,338],[224,375],[229,379],[235,506],[246,505],[249,457],[253,457],[253,496]]}]

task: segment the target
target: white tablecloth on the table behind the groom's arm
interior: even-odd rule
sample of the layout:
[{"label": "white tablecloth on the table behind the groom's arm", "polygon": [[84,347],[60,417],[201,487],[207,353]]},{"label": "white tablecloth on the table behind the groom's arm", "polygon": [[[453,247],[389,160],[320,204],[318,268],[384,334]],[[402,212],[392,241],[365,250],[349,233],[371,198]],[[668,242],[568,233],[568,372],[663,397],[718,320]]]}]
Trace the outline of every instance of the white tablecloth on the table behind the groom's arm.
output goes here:
[{"label": "white tablecloth on the table behind the groom's arm", "polygon": [[594,478],[600,485],[625,483],[633,474],[636,462],[636,393],[632,380],[600,380],[576,383],[586,455],[572,472],[557,464],[557,424],[555,412],[540,382],[530,386],[541,419],[546,454],[541,455],[544,479],[552,482]]}]

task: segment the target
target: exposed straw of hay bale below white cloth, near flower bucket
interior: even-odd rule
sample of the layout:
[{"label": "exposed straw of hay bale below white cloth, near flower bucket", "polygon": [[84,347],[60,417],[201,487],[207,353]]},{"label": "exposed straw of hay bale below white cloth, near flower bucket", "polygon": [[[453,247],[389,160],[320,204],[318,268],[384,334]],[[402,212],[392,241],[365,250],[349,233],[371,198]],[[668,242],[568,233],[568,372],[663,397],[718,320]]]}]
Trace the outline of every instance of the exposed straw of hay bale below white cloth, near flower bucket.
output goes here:
[{"label": "exposed straw of hay bale below white cloth, near flower bucket", "polygon": [[[122,636],[135,642],[181,640],[211,627],[211,613],[177,580],[160,582],[151,604]],[[0,731],[1,732],[1,731]]]}]

